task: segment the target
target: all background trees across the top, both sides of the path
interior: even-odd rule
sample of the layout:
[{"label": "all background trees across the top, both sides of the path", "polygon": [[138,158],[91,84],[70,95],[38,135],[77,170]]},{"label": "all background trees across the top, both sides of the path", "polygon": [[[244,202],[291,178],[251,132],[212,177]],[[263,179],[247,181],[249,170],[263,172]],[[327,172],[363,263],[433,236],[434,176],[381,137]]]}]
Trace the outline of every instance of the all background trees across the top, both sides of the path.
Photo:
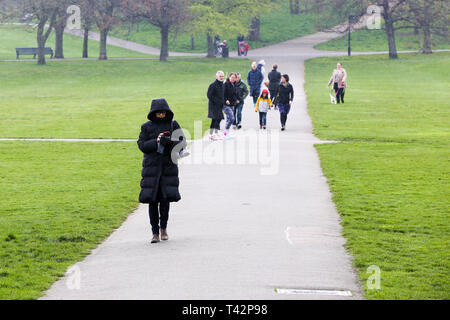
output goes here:
[{"label": "all background trees across the top, both sides of the path", "polygon": [[[96,27],[100,33],[99,59],[106,60],[106,40],[111,29],[120,23],[147,21],[161,33],[160,60],[169,55],[169,34],[182,29],[203,33],[208,44],[208,57],[214,57],[215,34],[223,29],[236,34],[247,34],[249,40],[259,40],[260,13],[275,10],[283,0],[0,0],[0,18],[5,15],[21,18],[32,14],[37,22],[39,64],[45,64],[44,48],[54,30],[55,57],[64,58],[64,30],[71,15],[67,8],[81,9],[84,31],[83,57],[88,57],[89,31]],[[423,52],[431,52],[431,35],[448,37],[450,1],[443,0],[289,0],[291,14],[314,12],[322,19],[347,21],[349,16],[361,17],[370,5],[382,10],[389,56],[397,58],[395,32],[414,27],[422,30]],[[3,16],[3,17],[2,17]],[[358,19],[356,19],[358,20]],[[355,20],[355,21],[356,21]],[[351,28],[351,26],[349,26]]]}]

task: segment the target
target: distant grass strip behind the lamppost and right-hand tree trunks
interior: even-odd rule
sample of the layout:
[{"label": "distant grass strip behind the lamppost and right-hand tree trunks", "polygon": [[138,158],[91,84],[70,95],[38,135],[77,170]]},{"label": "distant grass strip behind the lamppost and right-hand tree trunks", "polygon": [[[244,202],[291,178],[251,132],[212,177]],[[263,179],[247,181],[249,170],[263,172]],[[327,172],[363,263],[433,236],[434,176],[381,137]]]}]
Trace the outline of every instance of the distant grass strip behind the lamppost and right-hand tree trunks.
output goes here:
[{"label": "distant grass strip behind the lamppost and right-hand tree trunks", "polygon": [[[414,35],[413,29],[402,29],[396,33],[396,46],[399,51],[417,51],[422,48],[423,36]],[[362,29],[352,33],[351,45],[353,51],[388,51],[388,43],[385,30]],[[432,37],[432,49],[450,49],[450,39]],[[333,39],[316,46],[320,50],[347,51],[348,37]]]}]

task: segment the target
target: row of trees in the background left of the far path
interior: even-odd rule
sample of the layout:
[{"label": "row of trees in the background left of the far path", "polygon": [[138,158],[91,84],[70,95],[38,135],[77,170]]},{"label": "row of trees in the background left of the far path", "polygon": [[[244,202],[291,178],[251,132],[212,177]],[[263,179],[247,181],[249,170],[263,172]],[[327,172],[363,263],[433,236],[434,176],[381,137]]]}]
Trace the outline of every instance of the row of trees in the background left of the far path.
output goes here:
[{"label": "row of trees in the background left of the far path", "polygon": [[[64,58],[64,30],[71,13],[67,8],[77,5],[81,10],[84,32],[83,57],[88,57],[89,31],[95,26],[100,33],[99,59],[106,60],[107,37],[111,29],[124,22],[147,21],[161,33],[160,60],[169,55],[169,34],[176,28],[205,34],[208,56],[214,57],[213,37],[224,28],[229,32],[259,34],[259,14],[273,8],[279,0],[0,0],[2,12],[21,18],[33,15],[37,22],[38,64],[45,64],[44,49],[54,30],[55,58]],[[245,17],[250,17],[245,19]],[[258,25],[254,26],[254,21]],[[252,22],[252,25],[250,25]],[[250,25],[250,27],[249,27]],[[250,29],[250,30],[249,30]]]}]

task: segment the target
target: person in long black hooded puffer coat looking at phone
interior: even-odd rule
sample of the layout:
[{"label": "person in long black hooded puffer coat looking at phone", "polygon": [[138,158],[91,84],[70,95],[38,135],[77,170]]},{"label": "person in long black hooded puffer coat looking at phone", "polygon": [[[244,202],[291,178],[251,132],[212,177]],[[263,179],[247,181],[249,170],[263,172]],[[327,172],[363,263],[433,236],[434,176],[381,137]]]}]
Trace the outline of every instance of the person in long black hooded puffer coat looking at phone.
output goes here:
[{"label": "person in long black hooded puffer coat looking at phone", "polygon": [[137,141],[139,149],[144,153],[139,202],[149,204],[152,243],[160,241],[160,231],[162,240],[169,239],[167,221],[170,202],[181,199],[177,157],[174,158],[173,155],[186,146],[186,139],[173,117],[165,99],[153,100],[147,117],[149,121],[142,125]]}]

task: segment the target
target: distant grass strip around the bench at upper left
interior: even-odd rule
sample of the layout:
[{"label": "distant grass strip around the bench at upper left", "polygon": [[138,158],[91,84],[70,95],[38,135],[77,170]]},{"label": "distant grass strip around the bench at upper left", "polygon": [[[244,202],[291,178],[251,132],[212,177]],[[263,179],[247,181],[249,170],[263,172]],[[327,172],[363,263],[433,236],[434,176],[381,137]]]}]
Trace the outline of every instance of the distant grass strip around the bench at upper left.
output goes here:
[{"label": "distant grass strip around the bench at upper left", "polygon": [[[16,59],[16,48],[37,47],[36,30],[29,26],[0,25],[0,59]],[[55,33],[52,32],[47,40],[46,47],[55,50]],[[143,53],[108,46],[108,57],[151,57]],[[64,35],[64,57],[81,58],[83,52],[83,39],[69,34]],[[97,58],[99,55],[99,42],[89,40],[89,57]],[[21,56],[33,58],[33,56]],[[50,56],[47,56],[50,58]]]}]

